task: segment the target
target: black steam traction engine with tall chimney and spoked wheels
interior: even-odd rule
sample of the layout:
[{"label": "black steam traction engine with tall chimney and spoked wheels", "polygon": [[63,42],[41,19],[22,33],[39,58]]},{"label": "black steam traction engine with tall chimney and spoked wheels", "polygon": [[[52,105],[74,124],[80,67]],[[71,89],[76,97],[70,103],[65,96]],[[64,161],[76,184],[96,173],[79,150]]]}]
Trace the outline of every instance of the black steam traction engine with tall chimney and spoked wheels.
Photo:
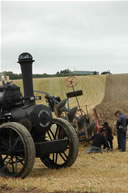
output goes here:
[{"label": "black steam traction engine with tall chimney and spoked wheels", "polygon": [[78,138],[71,124],[52,118],[49,107],[36,104],[32,81],[33,57],[22,53],[24,96],[12,82],[0,86],[0,176],[25,178],[35,157],[49,168],[70,167],[78,154]]}]

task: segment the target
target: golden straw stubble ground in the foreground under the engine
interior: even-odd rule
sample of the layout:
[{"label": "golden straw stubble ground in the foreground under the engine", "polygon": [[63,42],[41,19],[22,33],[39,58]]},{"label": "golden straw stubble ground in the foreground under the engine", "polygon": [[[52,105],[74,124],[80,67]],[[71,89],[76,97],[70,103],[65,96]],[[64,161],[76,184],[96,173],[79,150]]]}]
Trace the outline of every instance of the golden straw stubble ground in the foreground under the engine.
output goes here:
[{"label": "golden straw stubble ground in the foreground under the engine", "polygon": [[[86,154],[87,147],[80,144],[79,155],[70,168],[46,168],[36,159],[31,174],[22,179],[0,178],[1,193],[128,193],[128,150]],[[127,143],[128,146],[128,143]]]}]

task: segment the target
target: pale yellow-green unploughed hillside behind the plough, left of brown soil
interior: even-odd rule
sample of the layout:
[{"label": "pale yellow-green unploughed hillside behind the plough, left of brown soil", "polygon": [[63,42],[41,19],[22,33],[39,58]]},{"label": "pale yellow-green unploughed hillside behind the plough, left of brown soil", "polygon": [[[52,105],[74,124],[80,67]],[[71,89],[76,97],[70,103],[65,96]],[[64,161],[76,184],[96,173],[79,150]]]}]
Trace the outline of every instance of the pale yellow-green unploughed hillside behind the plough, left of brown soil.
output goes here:
[{"label": "pale yellow-green unploughed hillside behind the plough, left of brown soil", "polygon": [[[78,97],[82,108],[85,109],[85,105],[87,105],[89,109],[92,109],[102,101],[105,93],[106,77],[105,75],[77,77],[78,84],[75,86],[75,90],[83,91],[83,95]],[[51,96],[60,96],[64,99],[67,92],[72,92],[72,88],[66,87],[65,80],[65,77],[34,79],[33,87],[34,90],[45,91]],[[16,80],[14,83],[20,86],[23,92],[22,81]],[[44,94],[35,93],[35,95],[41,95],[41,102],[45,103]],[[70,99],[70,104],[71,106],[77,105],[75,98]]]}]

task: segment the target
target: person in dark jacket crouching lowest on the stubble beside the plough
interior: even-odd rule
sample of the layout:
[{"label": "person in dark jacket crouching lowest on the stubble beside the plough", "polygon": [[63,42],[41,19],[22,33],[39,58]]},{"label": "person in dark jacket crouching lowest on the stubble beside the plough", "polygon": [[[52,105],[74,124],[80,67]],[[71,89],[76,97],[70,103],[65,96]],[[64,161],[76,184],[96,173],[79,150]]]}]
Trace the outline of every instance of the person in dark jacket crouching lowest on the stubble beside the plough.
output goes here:
[{"label": "person in dark jacket crouching lowest on the stubble beside the plough", "polygon": [[93,140],[91,147],[88,148],[87,153],[98,153],[102,152],[103,149],[109,149],[108,142],[103,133],[97,133],[93,137],[91,137],[88,141]]}]

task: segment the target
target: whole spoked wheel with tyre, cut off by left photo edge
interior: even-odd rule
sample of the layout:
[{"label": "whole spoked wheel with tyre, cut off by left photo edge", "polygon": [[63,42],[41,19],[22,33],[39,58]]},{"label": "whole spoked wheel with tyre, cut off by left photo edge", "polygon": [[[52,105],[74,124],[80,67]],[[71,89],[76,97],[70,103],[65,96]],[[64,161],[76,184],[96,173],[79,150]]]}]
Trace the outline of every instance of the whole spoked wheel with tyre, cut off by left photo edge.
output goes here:
[{"label": "whole spoked wheel with tyre, cut off by left photo edge", "polygon": [[21,124],[0,125],[0,176],[25,178],[33,168],[35,145]]}]

